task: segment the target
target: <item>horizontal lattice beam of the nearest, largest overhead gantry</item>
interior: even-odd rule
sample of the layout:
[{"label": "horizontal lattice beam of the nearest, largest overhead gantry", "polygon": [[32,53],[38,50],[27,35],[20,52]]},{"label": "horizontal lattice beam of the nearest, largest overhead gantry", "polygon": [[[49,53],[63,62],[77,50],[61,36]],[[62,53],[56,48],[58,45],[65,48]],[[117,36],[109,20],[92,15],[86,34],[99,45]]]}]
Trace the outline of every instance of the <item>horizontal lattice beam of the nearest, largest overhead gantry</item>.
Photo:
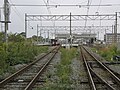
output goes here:
[{"label": "horizontal lattice beam of the nearest, largest overhead gantry", "polygon": [[[70,15],[26,15],[27,21],[69,21]],[[115,14],[106,15],[71,15],[72,21],[115,20]]]}]

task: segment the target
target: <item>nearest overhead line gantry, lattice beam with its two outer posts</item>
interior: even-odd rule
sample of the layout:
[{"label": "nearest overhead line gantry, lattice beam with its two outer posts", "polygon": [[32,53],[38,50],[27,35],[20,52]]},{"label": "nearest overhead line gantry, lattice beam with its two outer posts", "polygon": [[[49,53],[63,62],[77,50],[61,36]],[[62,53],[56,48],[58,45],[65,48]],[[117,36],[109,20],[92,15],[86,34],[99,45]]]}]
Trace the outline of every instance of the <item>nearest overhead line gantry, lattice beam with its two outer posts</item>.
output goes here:
[{"label": "nearest overhead line gantry, lattice beam with its two outer posts", "polygon": [[[114,41],[117,41],[117,14],[99,14],[99,15],[29,15],[25,14],[25,32],[27,37],[27,22],[28,21],[114,21]],[[113,25],[113,24],[112,24]],[[112,26],[111,25],[111,26]]]}]

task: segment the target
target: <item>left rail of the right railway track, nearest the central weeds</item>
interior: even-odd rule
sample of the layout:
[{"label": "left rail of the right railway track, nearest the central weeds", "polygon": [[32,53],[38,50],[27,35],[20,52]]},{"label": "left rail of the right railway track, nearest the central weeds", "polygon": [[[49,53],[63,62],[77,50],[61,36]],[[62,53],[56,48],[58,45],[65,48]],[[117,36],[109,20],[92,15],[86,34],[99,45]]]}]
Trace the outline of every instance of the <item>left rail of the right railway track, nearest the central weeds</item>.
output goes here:
[{"label": "left rail of the right railway track, nearest the central weeds", "polygon": [[[82,49],[82,48],[81,48]],[[91,72],[90,72],[90,69],[89,69],[89,67],[88,67],[88,64],[87,64],[87,61],[86,61],[86,59],[85,59],[85,56],[83,55],[83,53],[82,53],[82,50],[81,50],[81,56],[82,56],[82,59],[83,59],[83,61],[84,61],[84,64],[85,64],[85,67],[86,67],[86,69],[87,69],[87,73],[88,73],[88,77],[89,77],[89,85],[90,85],[90,87],[91,87],[91,89],[92,90],[97,90],[96,89],[96,86],[95,86],[95,83],[94,83],[94,81],[93,81],[93,77],[92,77],[92,75],[91,75]]]}]

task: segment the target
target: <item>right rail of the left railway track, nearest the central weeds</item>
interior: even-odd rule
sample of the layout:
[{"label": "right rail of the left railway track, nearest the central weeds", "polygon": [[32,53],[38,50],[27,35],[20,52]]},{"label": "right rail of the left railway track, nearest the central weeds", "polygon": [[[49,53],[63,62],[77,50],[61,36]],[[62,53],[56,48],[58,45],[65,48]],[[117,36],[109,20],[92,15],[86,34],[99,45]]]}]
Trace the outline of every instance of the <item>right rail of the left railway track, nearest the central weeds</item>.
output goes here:
[{"label": "right rail of the left railway track, nearest the central weeds", "polygon": [[32,90],[32,87],[35,85],[36,81],[38,80],[40,74],[46,69],[46,67],[49,65],[49,63],[51,62],[51,60],[54,58],[54,56],[56,55],[56,53],[58,52],[60,47],[58,47],[56,49],[56,51],[52,54],[52,56],[49,58],[49,60],[41,67],[41,69],[39,70],[39,72],[36,74],[36,76],[31,80],[31,82],[26,86],[26,88],[24,90]]}]

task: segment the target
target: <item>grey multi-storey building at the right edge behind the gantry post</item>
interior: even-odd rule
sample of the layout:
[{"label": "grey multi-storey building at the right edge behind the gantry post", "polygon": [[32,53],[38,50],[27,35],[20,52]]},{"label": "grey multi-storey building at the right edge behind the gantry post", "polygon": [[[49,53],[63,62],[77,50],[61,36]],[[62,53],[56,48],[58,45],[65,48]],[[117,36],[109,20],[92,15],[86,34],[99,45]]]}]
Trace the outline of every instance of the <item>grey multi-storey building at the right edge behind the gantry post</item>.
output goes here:
[{"label": "grey multi-storey building at the right edge behind the gantry post", "polygon": [[[115,41],[115,34],[114,33],[106,33],[104,35],[104,41],[106,44],[112,44]],[[120,42],[120,33],[117,34],[117,43]]]}]

